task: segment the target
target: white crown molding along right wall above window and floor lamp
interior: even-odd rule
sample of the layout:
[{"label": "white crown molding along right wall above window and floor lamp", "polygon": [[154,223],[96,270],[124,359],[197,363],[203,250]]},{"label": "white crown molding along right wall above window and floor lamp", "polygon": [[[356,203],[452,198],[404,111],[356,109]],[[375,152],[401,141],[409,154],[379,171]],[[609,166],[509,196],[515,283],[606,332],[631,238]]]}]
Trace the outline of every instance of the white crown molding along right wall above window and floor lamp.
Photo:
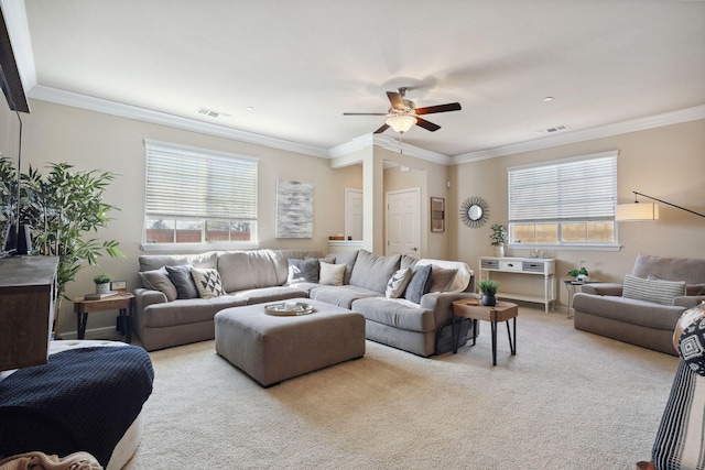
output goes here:
[{"label": "white crown molding along right wall above window and floor lamp", "polygon": [[626,134],[629,132],[644,131],[648,129],[680,124],[682,122],[695,121],[698,119],[705,119],[705,105],[694,106],[692,108],[681,109],[677,111],[664,112],[661,114],[630,119],[628,121],[615,122],[607,125],[600,125],[598,128],[567,132],[560,135],[551,135],[527,142],[519,142],[510,145],[498,146],[495,149],[464,153],[462,155],[454,156],[453,163],[462,164],[469,162],[479,162],[480,160],[496,159],[498,156],[514,155],[522,152],[585,142],[594,139]]}]

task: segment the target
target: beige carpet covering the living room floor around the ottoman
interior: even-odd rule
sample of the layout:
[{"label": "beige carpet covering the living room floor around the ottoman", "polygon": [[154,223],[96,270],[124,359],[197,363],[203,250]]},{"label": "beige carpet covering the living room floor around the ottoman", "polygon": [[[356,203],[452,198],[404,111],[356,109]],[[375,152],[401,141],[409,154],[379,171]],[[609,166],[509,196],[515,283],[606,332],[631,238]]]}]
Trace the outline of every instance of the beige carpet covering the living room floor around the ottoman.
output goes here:
[{"label": "beige carpet covering the living room floor around the ottoman", "polygon": [[214,341],[151,353],[154,393],[129,469],[633,469],[649,459],[677,359],[522,307],[423,359],[365,358],[262,389]]}]

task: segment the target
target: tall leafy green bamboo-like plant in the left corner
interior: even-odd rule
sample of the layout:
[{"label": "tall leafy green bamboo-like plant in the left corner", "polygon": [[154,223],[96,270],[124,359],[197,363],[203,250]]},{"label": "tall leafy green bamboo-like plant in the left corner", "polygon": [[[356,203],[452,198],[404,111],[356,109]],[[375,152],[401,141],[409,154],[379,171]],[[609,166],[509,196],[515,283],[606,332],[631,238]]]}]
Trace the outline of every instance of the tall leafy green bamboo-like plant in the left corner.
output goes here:
[{"label": "tall leafy green bamboo-like plant in the left corner", "polygon": [[[116,240],[87,238],[108,226],[107,214],[118,207],[102,201],[105,188],[115,173],[98,170],[75,171],[68,163],[50,164],[42,175],[30,166],[22,174],[20,220],[32,228],[33,253],[57,256],[57,302],[55,325],[58,325],[62,298],[66,285],[76,280],[86,265],[98,265],[98,258],[124,258]],[[3,175],[0,170],[0,175]]]}]

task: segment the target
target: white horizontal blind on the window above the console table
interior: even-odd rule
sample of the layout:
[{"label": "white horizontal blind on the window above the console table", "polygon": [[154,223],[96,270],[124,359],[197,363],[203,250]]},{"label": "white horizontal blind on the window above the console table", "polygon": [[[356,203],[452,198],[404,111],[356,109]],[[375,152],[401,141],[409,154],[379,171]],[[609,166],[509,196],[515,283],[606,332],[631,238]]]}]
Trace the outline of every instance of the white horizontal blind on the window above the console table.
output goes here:
[{"label": "white horizontal blind on the window above the console table", "polygon": [[617,152],[508,168],[509,222],[615,217]]}]

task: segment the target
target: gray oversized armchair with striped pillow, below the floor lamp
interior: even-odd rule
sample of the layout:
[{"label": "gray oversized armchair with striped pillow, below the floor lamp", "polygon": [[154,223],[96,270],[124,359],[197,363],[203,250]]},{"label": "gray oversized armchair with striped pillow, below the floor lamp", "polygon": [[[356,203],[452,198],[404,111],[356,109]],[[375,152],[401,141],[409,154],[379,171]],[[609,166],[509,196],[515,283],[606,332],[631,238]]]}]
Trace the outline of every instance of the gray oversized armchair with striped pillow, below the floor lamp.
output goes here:
[{"label": "gray oversized armchair with striped pillow, below the floor lamp", "polygon": [[573,299],[575,328],[676,356],[679,318],[705,300],[705,260],[640,253],[625,282],[584,285]]}]

